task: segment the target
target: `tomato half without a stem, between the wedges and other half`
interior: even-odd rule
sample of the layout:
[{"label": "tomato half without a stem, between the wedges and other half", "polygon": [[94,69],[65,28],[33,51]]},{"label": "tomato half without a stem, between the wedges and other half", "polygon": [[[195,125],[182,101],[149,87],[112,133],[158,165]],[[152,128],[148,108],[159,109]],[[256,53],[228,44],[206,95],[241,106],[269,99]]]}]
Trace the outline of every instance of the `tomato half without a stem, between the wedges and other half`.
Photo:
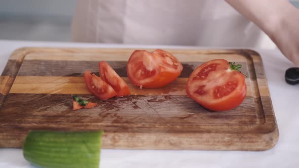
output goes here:
[{"label": "tomato half without a stem, between the wedges and other half", "polygon": [[127,64],[130,81],[140,88],[159,88],[175,80],[183,69],[171,53],[164,50],[135,50]]}]

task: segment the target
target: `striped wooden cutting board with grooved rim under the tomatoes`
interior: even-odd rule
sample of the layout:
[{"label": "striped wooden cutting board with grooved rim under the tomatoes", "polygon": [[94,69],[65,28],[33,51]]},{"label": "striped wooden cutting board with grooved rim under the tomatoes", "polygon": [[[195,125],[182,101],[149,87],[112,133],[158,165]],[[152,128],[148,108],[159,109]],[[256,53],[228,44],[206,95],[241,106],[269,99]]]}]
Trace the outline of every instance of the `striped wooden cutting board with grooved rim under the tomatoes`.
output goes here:
[{"label": "striped wooden cutting board with grooved rim under the tomatoes", "polygon": [[[183,71],[170,85],[140,89],[126,74],[134,49],[22,48],[12,53],[0,80],[0,147],[22,147],[29,130],[104,130],[109,149],[267,150],[279,133],[263,63],[251,50],[175,50]],[[153,51],[153,49],[148,49]],[[186,96],[191,72],[212,59],[242,64],[247,95],[225,112],[204,109]],[[100,101],[85,87],[83,73],[98,74],[107,61],[131,95]],[[97,102],[72,110],[71,94]]]}]

